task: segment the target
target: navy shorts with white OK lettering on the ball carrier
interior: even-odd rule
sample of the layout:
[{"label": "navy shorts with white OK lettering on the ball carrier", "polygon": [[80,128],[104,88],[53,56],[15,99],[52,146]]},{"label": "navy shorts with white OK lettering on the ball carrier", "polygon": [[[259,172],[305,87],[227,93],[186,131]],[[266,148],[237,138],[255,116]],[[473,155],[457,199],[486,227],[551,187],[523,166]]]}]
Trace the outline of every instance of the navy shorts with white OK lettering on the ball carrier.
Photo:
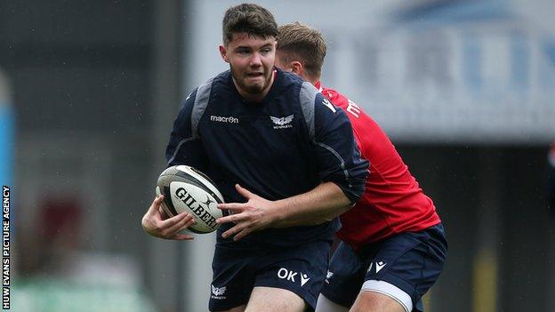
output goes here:
[{"label": "navy shorts with white OK lettering on the ball carrier", "polygon": [[246,304],[256,286],[294,292],[314,309],[326,279],[330,248],[331,240],[298,246],[216,244],[210,310]]}]

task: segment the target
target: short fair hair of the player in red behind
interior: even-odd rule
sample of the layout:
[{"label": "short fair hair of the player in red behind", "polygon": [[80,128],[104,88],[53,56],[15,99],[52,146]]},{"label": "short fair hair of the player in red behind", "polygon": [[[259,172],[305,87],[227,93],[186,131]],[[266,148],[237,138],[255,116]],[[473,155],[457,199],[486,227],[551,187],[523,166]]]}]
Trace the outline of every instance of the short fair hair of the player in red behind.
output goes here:
[{"label": "short fair hair of the player in red behind", "polygon": [[280,59],[284,63],[299,60],[308,76],[319,78],[327,51],[322,34],[298,21],[281,25],[277,30],[277,51],[282,52]]}]

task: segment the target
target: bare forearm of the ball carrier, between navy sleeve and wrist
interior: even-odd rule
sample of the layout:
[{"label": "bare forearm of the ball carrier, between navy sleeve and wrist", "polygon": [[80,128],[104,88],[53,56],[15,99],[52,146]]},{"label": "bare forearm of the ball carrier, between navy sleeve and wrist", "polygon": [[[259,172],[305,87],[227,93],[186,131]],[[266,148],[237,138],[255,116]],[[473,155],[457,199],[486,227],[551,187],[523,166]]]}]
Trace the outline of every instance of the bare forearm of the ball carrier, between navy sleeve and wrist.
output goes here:
[{"label": "bare forearm of the ball carrier, between navy sleeve and wrist", "polygon": [[324,223],[347,212],[350,200],[333,182],[325,182],[309,192],[274,202],[272,228],[288,228]]}]

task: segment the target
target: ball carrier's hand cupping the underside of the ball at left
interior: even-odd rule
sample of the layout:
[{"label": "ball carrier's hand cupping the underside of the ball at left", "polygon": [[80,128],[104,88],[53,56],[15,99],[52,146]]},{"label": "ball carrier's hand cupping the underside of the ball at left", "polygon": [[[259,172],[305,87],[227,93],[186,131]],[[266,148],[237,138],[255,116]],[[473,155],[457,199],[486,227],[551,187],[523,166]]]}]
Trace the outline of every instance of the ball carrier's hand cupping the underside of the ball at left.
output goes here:
[{"label": "ball carrier's hand cupping the underside of the ball at left", "polygon": [[165,213],[162,209],[162,201],[164,196],[157,196],[149,210],[142,217],[142,228],[151,236],[156,236],[164,239],[175,240],[191,240],[194,236],[189,234],[181,234],[180,232],[189,228],[195,223],[195,219],[189,213],[182,212],[172,218],[165,219]]}]

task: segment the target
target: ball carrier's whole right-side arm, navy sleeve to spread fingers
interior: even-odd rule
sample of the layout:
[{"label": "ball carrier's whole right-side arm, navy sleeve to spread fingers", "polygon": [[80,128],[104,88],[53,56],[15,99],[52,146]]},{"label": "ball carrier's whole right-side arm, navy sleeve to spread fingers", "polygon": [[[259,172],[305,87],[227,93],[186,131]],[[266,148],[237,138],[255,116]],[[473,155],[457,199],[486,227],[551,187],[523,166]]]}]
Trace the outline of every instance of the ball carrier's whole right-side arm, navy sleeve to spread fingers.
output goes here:
[{"label": "ball carrier's whole right-side arm, navy sleeve to spread fingers", "polygon": [[236,186],[245,204],[219,204],[233,214],[217,220],[236,225],[222,236],[240,239],[263,228],[315,225],[346,212],[364,191],[368,162],[361,159],[348,117],[318,93],[314,111],[314,144],[320,180],[301,195],[269,201]]}]

